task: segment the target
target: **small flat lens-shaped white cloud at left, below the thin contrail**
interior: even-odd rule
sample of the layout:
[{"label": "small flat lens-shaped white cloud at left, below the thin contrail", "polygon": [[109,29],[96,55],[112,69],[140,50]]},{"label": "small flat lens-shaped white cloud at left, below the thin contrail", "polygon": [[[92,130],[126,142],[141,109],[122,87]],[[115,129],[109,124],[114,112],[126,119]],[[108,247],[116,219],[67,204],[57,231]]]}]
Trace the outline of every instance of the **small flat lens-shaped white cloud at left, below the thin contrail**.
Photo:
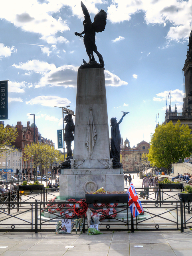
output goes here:
[{"label": "small flat lens-shaped white cloud at left, below the thin contrail", "polygon": [[47,72],[49,70],[56,69],[54,64],[39,60],[29,60],[26,63],[20,62],[19,65],[13,64],[15,68],[21,68],[23,70],[34,71],[36,73]]}]

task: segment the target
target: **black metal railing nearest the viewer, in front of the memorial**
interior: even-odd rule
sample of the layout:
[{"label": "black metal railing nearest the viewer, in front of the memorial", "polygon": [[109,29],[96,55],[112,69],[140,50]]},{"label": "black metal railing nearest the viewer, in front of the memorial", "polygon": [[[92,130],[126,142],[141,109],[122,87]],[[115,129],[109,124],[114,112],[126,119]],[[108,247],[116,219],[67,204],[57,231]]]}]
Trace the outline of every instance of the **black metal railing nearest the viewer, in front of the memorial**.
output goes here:
[{"label": "black metal railing nearest the viewer, in front of the memorial", "polygon": [[[44,213],[50,213],[50,205],[48,204],[60,204],[59,208],[62,208],[63,213],[58,214],[51,212],[49,218],[42,216]],[[99,202],[98,202],[99,203]],[[68,201],[63,202],[0,202],[0,226],[1,231],[55,231],[55,221],[66,218],[68,214],[66,210],[70,207],[61,207],[61,204],[69,204]],[[70,204],[75,204],[70,202]],[[143,202],[142,202],[143,204]],[[161,204],[161,207],[160,207]],[[166,205],[164,201],[147,201],[144,202],[144,215],[138,215],[133,218],[128,203],[121,204],[116,207],[103,206],[94,207],[92,204],[87,204],[92,212],[97,212],[103,216],[110,218],[109,220],[100,220],[100,230],[181,230],[184,232],[186,228],[192,228],[192,208],[190,203],[184,203],[182,200],[167,200]],[[105,208],[116,209],[116,213],[125,212],[127,218],[113,217],[112,214],[103,213]],[[54,210],[58,206],[52,207]],[[158,209],[158,210],[156,210]],[[74,210],[71,211],[73,213]],[[170,214],[170,215],[169,215]],[[84,219],[83,232],[87,230],[88,226]]]}]

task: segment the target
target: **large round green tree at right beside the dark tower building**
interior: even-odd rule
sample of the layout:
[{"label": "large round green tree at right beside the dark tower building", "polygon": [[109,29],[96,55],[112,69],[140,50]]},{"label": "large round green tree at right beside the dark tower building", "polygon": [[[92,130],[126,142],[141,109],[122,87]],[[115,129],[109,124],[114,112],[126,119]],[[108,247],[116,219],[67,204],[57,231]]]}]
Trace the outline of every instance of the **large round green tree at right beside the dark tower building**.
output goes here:
[{"label": "large round green tree at right beside the dark tower building", "polygon": [[190,156],[192,151],[192,134],[188,125],[176,124],[171,121],[156,127],[151,134],[148,161],[153,167],[171,168],[181,157]]}]

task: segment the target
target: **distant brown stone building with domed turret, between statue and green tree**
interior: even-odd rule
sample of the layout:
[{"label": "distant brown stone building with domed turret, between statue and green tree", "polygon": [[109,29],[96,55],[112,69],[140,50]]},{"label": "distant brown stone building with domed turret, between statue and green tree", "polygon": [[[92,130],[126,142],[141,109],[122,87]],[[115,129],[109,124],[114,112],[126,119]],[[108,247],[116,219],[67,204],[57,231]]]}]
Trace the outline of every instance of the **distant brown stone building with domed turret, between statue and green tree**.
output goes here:
[{"label": "distant brown stone building with domed turret, between statue and green tree", "polygon": [[128,139],[125,140],[121,150],[122,164],[124,172],[139,172],[144,169],[144,164],[141,164],[142,154],[148,154],[150,144],[146,141],[141,141],[137,146],[130,147]]}]

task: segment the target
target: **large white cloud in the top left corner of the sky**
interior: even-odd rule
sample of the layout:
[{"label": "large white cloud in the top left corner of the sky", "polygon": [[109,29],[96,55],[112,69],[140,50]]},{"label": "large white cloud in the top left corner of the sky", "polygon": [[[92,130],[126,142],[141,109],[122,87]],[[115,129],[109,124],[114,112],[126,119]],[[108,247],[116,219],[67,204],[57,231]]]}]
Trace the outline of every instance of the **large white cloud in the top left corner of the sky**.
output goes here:
[{"label": "large white cloud in the top left corner of the sky", "polygon": [[61,0],[40,3],[38,0],[5,1],[0,8],[0,18],[8,20],[14,26],[27,32],[39,33],[48,37],[58,31],[69,30],[65,20],[60,17],[53,18],[53,14],[59,12],[64,3]]}]

